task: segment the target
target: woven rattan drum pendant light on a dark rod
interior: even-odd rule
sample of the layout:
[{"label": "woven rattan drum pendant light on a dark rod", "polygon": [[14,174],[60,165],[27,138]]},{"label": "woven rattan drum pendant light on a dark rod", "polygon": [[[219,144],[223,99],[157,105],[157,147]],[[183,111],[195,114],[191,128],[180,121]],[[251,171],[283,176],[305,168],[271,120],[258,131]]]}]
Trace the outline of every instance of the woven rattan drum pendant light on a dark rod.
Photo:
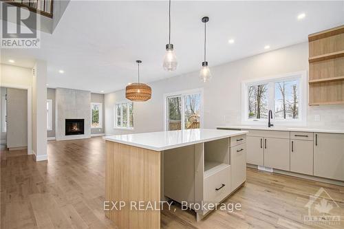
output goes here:
[{"label": "woven rattan drum pendant light on a dark rod", "polygon": [[142,61],[136,61],[138,63],[138,83],[131,83],[125,87],[125,98],[136,101],[144,102],[151,98],[151,87],[145,83],[140,83],[140,63]]}]

